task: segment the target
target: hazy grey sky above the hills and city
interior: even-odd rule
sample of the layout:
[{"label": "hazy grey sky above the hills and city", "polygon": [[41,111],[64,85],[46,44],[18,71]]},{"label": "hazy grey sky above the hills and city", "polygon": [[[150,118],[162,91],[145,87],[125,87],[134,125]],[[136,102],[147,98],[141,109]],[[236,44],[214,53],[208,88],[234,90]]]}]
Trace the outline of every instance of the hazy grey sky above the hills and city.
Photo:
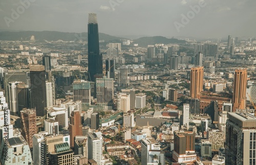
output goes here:
[{"label": "hazy grey sky above the hills and city", "polygon": [[[26,1],[30,5],[24,8],[21,2]],[[190,6],[200,1],[0,0],[0,30],[87,32],[88,13],[93,12],[99,32],[110,35],[255,36],[255,0],[205,0],[205,7],[182,24],[181,14],[193,14]],[[18,16],[13,14],[17,10]]]}]

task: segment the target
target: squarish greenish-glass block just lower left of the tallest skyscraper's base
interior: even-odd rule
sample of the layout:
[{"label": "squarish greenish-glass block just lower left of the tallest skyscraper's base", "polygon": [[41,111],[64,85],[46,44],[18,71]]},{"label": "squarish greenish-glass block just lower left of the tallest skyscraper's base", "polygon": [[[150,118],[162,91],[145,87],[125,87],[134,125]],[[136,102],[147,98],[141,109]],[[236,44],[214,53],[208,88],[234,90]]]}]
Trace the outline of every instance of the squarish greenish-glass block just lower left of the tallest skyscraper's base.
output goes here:
[{"label": "squarish greenish-glass block just lower left of the tallest skyscraper's base", "polygon": [[91,84],[88,81],[73,82],[73,101],[81,101],[82,104],[91,104]]}]

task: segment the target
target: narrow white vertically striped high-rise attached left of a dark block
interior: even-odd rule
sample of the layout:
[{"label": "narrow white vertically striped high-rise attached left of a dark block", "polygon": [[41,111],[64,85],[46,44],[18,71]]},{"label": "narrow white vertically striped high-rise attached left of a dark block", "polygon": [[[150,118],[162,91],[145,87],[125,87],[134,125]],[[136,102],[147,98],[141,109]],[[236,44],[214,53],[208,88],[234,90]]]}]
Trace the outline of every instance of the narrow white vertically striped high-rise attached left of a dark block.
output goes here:
[{"label": "narrow white vertically striped high-rise attached left of a dark block", "polygon": [[19,82],[10,82],[8,85],[8,100],[11,115],[16,115],[18,113],[18,100],[17,100],[17,84]]}]

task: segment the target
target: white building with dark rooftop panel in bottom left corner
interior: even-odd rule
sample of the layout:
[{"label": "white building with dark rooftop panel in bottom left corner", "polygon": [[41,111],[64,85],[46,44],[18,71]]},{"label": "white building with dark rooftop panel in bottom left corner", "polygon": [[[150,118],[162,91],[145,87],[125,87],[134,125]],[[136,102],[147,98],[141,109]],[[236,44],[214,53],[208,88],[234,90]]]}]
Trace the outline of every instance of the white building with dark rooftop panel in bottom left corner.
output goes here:
[{"label": "white building with dark rooftop panel in bottom left corner", "polygon": [[33,164],[30,148],[22,135],[16,135],[1,144],[1,164]]}]

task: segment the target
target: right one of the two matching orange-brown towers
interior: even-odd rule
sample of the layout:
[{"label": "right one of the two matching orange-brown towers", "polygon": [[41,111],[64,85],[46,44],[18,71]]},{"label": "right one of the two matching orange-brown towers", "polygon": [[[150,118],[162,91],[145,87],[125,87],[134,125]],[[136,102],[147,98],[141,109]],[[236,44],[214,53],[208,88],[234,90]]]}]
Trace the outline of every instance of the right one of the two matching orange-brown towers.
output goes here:
[{"label": "right one of the two matching orange-brown towers", "polygon": [[233,112],[246,108],[247,69],[236,69],[233,82]]}]

